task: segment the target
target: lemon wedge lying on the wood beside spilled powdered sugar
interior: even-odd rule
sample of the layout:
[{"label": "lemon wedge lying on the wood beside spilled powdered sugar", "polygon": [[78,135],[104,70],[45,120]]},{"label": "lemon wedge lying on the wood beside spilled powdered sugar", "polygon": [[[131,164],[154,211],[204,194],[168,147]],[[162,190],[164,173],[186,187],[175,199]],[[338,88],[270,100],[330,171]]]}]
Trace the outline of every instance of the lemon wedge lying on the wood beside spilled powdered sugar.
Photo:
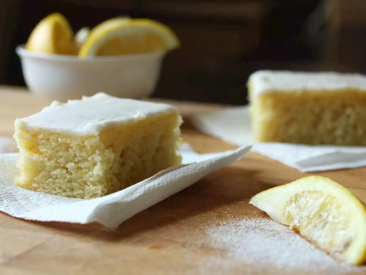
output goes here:
[{"label": "lemon wedge lying on the wood beside spilled powdered sugar", "polygon": [[366,208],[347,188],[321,176],[270,188],[249,201],[337,260],[366,260]]}]

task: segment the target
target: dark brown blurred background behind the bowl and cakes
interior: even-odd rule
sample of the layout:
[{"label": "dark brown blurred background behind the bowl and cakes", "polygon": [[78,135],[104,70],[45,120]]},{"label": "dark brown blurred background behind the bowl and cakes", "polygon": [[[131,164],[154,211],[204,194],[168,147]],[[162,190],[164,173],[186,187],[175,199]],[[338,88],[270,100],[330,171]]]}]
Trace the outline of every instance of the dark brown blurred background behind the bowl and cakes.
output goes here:
[{"label": "dark brown blurred background behind the bowl and cakes", "polygon": [[123,14],[171,27],[157,98],[245,104],[258,69],[366,73],[366,0],[0,0],[0,85],[25,85],[15,46],[55,11],[75,32]]}]

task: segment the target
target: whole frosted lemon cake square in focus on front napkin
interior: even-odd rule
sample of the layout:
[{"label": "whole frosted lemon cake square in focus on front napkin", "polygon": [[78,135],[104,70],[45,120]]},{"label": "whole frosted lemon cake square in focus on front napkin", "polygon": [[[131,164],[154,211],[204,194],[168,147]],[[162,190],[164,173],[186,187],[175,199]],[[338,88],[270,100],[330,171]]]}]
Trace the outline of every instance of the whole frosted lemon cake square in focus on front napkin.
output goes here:
[{"label": "whole frosted lemon cake square in focus on front napkin", "polygon": [[102,197],[181,163],[182,118],[168,104],[104,93],[15,121],[20,187]]}]

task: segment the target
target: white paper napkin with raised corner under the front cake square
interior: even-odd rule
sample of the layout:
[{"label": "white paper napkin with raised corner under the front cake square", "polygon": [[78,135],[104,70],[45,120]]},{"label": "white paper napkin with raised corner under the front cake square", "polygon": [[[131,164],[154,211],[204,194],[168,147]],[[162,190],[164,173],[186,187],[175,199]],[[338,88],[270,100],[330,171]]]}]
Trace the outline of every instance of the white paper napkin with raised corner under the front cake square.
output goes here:
[{"label": "white paper napkin with raised corner under the front cake square", "polygon": [[115,228],[138,212],[194,184],[202,177],[240,159],[251,146],[215,154],[198,154],[184,144],[183,164],[122,191],[97,199],[67,198],[16,186],[18,153],[0,154],[0,210],[11,216],[38,221],[98,222]]}]

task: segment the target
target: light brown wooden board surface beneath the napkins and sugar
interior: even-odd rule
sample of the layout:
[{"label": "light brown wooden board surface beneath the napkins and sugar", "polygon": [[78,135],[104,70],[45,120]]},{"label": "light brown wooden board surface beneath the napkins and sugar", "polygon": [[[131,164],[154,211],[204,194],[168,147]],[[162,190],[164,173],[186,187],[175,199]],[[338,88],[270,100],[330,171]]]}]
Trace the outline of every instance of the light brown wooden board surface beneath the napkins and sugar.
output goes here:
[{"label": "light brown wooden board surface beneath the napkins and sugar", "polygon": [[[47,104],[20,88],[0,88],[0,99],[0,135],[6,136],[12,135],[16,117],[35,113]],[[170,103],[178,106],[183,116],[223,107]],[[199,153],[235,148],[199,133],[187,122],[182,126],[182,134]],[[316,174],[352,188],[365,201],[365,168]],[[248,204],[249,199],[262,190],[305,175],[249,153],[135,215],[117,230],[99,224],[26,221],[0,212],[0,274],[293,274],[291,270],[270,265],[244,264],[202,238],[210,224],[232,217],[254,215],[268,219],[265,213]],[[360,272],[366,273],[366,269]],[[317,274],[331,273],[325,270]]]}]

